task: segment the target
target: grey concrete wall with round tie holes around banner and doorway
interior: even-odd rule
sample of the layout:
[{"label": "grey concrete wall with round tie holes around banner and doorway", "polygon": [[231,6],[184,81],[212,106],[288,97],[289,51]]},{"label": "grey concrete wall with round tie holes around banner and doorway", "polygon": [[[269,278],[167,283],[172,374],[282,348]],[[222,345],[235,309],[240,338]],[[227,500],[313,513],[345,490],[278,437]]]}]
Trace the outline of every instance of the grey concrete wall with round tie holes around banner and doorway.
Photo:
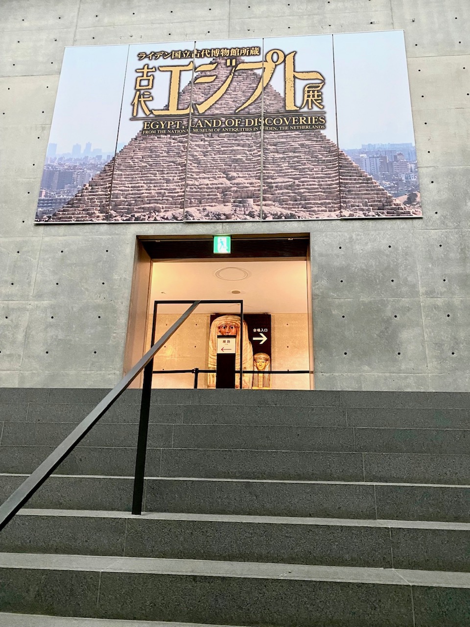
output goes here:
[{"label": "grey concrete wall with round tie holes around banner and doorway", "polygon": [[[312,238],[318,389],[468,389],[468,0],[2,0],[1,13],[0,386],[118,381],[137,234],[289,230]],[[34,224],[64,46],[392,28],[422,220]]]}]

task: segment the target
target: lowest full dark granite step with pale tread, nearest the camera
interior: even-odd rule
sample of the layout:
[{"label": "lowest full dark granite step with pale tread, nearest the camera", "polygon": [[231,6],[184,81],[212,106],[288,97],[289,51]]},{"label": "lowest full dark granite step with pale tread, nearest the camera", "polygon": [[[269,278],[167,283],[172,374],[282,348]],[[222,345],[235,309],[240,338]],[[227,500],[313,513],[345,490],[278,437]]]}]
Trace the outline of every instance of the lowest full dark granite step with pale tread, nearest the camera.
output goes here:
[{"label": "lowest full dark granite step with pale tread, nearest the camera", "polygon": [[271,627],[462,626],[470,603],[467,573],[256,562],[4,553],[0,583],[6,612]]}]

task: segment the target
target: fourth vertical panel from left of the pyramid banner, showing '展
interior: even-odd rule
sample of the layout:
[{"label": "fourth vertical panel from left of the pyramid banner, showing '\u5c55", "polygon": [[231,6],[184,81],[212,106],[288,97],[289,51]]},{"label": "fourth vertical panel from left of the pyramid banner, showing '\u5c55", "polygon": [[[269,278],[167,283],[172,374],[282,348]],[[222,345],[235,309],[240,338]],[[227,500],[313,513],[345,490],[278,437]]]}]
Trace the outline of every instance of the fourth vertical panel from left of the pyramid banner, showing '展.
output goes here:
[{"label": "fourth vertical panel from left of the pyramid banner, showing '\u5c55", "polygon": [[264,39],[278,65],[263,93],[263,219],[340,218],[333,38],[292,43]]}]

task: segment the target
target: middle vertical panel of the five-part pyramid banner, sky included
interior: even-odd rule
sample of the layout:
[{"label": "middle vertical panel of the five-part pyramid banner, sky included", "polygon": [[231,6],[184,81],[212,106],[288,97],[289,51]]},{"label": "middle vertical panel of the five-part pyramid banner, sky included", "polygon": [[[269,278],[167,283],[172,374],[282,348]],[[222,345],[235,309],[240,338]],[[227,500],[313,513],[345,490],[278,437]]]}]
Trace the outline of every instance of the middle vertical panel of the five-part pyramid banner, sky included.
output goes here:
[{"label": "middle vertical panel of the five-part pyramid banner, sky included", "polygon": [[[210,59],[211,68],[216,64],[213,70],[201,69],[207,58],[195,60],[186,220],[259,220],[261,216],[262,74],[261,68],[253,66],[263,62],[263,40],[229,43],[230,48],[227,41],[196,42],[196,50],[232,56]],[[216,78],[210,83],[197,82],[210,80],[212,75]],[[244,107],[257,88],[259,97]],[[220,98],[217,93],[222,93]],[[206,108],[211,98],[215,102]],[[240,107],[243,109],[235,114]]]}]

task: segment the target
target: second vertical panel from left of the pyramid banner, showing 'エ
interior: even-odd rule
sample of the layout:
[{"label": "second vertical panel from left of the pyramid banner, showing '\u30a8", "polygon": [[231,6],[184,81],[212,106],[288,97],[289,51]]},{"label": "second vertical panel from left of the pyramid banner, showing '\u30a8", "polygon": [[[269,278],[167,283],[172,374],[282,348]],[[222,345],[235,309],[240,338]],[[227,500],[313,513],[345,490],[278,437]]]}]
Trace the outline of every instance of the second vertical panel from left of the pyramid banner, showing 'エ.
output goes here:
[{"label": "second vertical panel from left of the pyramid banner, showing '\u30a8", "polygon": [[[149,56],[154,51],[154,58],[145,58],[140,62],[139,56],[142,56],[144,48]],[[136,134],[136,130],[143,126],[148,110],[165,110],[169,106],[171,72],[157,71],[158,64],[167,68],[191,64],[194,41],[165,45],[152,43],[146,44],[144,48],[140,44],[129,46],[118,137],[123,148],[115,158],[110,201],[109,220],[112,222],[183,219],[189,110],[179,117],[179,125],[185,130],[182,134],[149,135],[144,134],[143,129]],[[156,58],[160,51],[166,54]],[[185,51],[187,60],[174,57],[175,53],[182,51]],[[168,58],[162,60],[163,56]],[[145,71],[145,68],[148,69]],[[180,72],[180,90],[177,93],[180,110],[189,109],[192,76],[192,70]],[[140,93],[144,98],[147,98],[148,88],[152,100],[136,101],[136,86],[142,87]]]}]

